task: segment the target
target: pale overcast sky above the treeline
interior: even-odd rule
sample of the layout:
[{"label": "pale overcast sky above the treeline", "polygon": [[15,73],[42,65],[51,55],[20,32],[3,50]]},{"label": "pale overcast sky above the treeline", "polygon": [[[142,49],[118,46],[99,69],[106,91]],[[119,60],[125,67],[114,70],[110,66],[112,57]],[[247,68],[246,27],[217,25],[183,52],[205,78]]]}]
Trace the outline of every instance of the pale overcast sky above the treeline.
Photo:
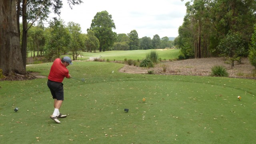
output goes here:
[{"label": "pale overcast sky above the treeline", "polygon": [[136,30],[138,37],[177,37],[178,28],[186,14],[185,3],[189,0],[83,0],[71,10],[63,1],[60,18],[67,25],[72,21],[80,24],[82,33],[87,33],[97,12],[106,10],[112,15],[117,34]]}]

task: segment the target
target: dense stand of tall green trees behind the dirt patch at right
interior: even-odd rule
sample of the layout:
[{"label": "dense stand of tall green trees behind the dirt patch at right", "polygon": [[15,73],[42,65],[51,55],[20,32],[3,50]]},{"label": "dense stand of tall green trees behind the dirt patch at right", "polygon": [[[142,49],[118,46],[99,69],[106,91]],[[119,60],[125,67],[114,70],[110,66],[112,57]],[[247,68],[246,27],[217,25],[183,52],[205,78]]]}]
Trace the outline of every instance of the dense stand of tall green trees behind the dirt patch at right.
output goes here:
[{"label": "dense stand of tall green trees behind the dirt patch at right", "polygon": [[186,58],[218,56],[223,52],[230,57],[248,55],[256,23],[255,0],[191,0],[185,5],[184,22],[174,42]]}]

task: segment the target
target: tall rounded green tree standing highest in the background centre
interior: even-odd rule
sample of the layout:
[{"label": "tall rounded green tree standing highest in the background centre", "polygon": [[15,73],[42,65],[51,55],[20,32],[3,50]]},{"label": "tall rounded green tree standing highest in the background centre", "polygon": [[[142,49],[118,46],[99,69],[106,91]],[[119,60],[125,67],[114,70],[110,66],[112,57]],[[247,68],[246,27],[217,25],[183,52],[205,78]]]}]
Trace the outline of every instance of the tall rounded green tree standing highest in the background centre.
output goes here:
[{"label": "tall rounded green tree standing highest in the background centre", "polygon": [[116,32],[113,32],[112,28],[116,29],[112,15],[108,14],[106,10],[97,12],[92,20],[90,30],[94,31],[95,36],[100,41],[100,52],[110,50],[114,42],[117,41]]}]

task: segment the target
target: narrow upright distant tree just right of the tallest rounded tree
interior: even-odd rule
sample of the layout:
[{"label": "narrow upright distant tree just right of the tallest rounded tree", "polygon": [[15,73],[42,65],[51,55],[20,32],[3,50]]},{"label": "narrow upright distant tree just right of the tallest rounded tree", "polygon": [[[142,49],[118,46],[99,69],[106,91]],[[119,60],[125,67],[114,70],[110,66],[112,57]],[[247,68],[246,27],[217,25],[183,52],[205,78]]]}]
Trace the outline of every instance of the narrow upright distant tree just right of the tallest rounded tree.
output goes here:
[{"label": "narrow upright distant tree just right of the tallest rounded tree", "polygon": [[129,34],[127,34],[129,37],[129,47],[130,50],[138,50],[140,46],[138,33],[136,30],[132,30]]}]

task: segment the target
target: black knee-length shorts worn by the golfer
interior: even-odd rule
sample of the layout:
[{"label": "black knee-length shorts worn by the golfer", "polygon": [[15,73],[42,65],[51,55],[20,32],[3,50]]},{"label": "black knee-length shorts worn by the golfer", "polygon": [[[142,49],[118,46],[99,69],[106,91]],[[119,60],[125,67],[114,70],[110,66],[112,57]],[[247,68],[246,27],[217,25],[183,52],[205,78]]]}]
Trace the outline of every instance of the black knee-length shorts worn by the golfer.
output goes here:
[{"label": "black knee-length shorts worn by the golfer", "polygon": [[47,86],[50,88],[52,98],[57,100],[64,100],[64,90],[62,82],[47,81]]}]

